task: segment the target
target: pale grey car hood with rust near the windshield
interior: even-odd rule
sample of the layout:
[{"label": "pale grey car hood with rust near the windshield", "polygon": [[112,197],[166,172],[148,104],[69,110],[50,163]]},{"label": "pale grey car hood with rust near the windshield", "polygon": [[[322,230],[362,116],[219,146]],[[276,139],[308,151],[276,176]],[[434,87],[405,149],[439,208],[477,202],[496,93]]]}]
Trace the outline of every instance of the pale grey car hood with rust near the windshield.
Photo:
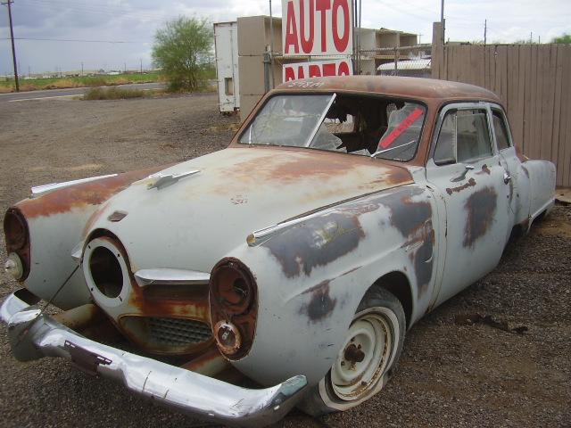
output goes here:
[{"label": "pale grey car hood with rust near the windshield", "polygon": [[160,174],[172,176],[167,185],[153,187],[153,176],[137,181],[86,227],[86,235],[96,228],[117,235],[133,271],[210,272],[254,230],[413,181],[408,169],[365,156],[260,146],[213,152]]}]

